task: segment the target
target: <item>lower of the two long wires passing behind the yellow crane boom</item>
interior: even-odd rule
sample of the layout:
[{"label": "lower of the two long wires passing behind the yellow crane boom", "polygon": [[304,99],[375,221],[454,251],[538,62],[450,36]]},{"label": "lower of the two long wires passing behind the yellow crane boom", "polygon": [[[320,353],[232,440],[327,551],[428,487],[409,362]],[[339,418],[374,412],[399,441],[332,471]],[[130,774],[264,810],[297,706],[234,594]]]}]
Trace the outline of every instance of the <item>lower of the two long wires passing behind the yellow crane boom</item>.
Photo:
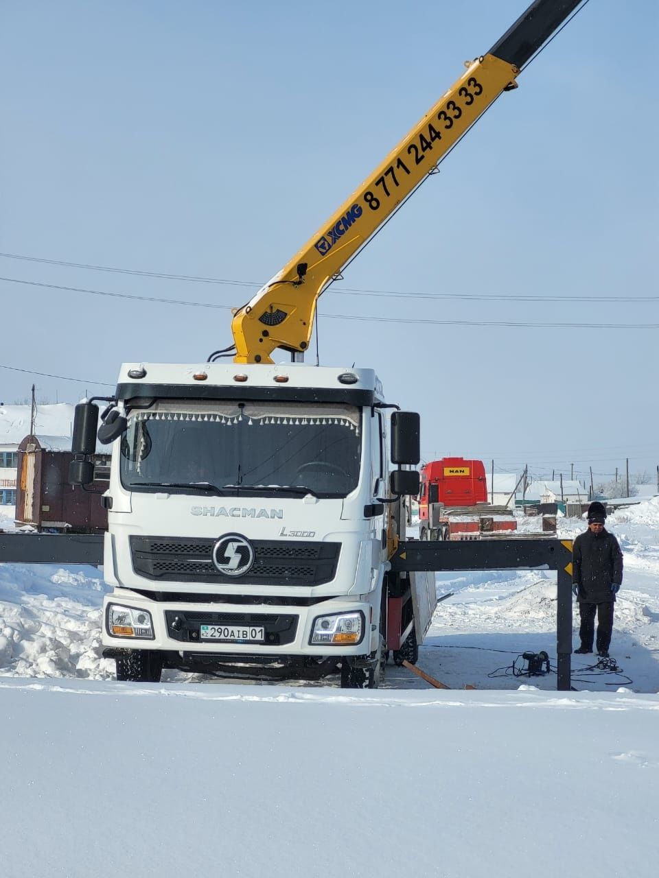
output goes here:
[{"label": "lower of the two long wires passing behind the yellow crane boom", "polygon": [[[231,306],[215,305],[211,302],[192,302],[186,299],[160,299],[153,296],[135,296],[123,292],[109,292],[105,290],[91,290],[85,287],[64,286],[63,284],[46,284],[34,280],[22,280],[18,277],[0,277],[0,281],[9,284],[26,284],[28,286],[44,287],[48,290],[62,290],[79,292],[91,296],[109,296],[113,299],[130,299],[133,301],[155,302],[163,305],[183,305],[197,308],[215,308],[223,311],[231,311]],[[465,327],[544,327],[554,329],[659,329],[659,323],[576,323],[576,322],[547,322],[544,320],[433,320],[429,318],[404,318],[404,317],[377,317],[373,315],[360,316],[358,314],[323,314],[328,320],[366,320],[372,323],[411,323],[415,325],[433,326],[465,326]]]}]

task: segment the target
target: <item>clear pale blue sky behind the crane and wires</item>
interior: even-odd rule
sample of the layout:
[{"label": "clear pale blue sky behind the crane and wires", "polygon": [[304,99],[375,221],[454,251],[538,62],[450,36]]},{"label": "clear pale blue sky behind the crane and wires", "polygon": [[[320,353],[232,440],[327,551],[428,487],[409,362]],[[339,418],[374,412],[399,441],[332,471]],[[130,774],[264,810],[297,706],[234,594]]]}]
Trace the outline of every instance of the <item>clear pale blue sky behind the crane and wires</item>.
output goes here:
[{"label": "clear pale blue sky behind the crane and wires", "polygon": [[[0,276],[242,305],[526,5],[5,0],[0,250],[255,286],[6,257]],[[655,0],[590,0],[322,298],[321,363],[378,371],[422,414],[424,457],[581,477],[659,464],[659,330],[427,322],[659,324],[659,302],[626,300],[659,296],[658,33]],[[33,381],[75,401],[123,361],[231,342],[226,310],[0,291],[0,363],[83,381],[0,369],[5,403]]]}]

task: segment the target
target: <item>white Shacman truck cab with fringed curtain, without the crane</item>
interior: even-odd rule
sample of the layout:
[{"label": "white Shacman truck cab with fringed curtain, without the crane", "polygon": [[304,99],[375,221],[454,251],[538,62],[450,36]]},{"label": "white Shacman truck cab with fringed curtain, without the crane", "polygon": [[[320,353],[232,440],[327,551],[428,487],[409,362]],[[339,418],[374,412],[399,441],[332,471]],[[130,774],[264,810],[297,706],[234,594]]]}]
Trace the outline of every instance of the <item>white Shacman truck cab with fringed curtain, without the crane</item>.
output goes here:
[{"label": "white Shacman truck cab with fringed curtain, without the crane", "polygon": [[416,471],[390,479],[389,430],[415,464],[418,416],[392,418],[371,370],[302,363],[128,363],[112,406],[102,639],[118,678],[377,685],[390,487],[418,488]]}]

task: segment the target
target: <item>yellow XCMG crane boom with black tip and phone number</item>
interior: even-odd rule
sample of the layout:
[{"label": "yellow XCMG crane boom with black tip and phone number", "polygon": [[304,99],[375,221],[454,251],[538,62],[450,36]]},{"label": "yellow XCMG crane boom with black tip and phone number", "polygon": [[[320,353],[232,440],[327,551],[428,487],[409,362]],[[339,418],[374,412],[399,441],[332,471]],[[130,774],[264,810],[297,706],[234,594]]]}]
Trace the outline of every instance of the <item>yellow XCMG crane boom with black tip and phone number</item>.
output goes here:
[{"label": "yellow XCMG crane boom with black tip and phone number", "polygon": [[489,105],[515,82],[522,65],[582,0],[535,0],[487,54],[466,71],[392,149],[364,183],[232,321],[235,363],[272,363],[276,348],[302,353],[315,304],[345,263]]}]

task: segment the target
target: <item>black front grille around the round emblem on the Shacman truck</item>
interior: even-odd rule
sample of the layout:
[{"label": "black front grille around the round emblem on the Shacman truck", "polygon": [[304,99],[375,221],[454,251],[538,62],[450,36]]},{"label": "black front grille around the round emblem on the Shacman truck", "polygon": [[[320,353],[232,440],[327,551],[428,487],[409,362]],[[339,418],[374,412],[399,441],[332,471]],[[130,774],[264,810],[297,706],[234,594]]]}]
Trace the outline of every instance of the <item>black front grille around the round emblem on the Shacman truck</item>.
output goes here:
[{"label": "black front grille around the round emblem on the Shacman truck", "polygon": [[341,543],[253,540],[254,564],[243,576],[225,576],[213,563],[215,540],[131,536],[133,569],[160,582],[226,585],[322,586],[337,575]]}]

